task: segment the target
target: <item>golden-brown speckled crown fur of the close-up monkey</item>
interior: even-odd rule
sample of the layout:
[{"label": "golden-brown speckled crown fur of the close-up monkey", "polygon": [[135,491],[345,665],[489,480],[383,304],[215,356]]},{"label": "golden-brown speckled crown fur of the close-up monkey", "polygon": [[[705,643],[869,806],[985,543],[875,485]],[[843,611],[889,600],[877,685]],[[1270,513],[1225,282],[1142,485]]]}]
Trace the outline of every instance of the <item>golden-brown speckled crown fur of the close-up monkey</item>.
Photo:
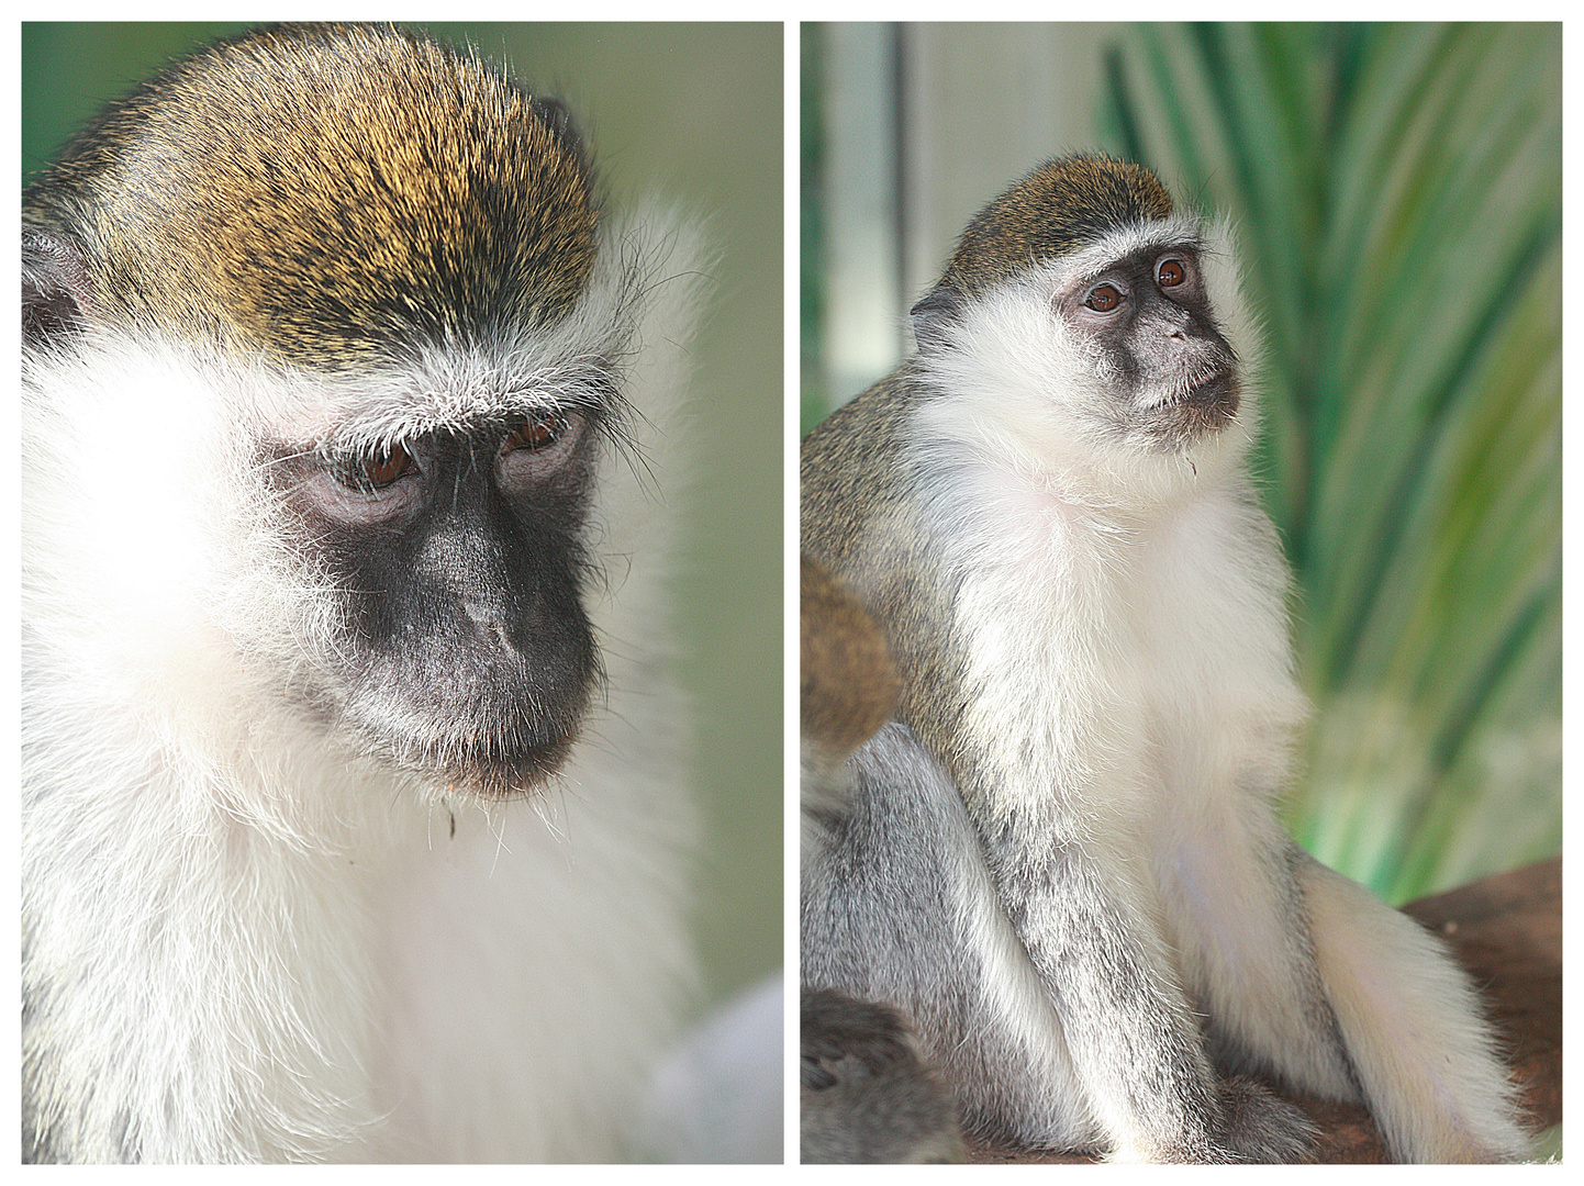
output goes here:
[{"label": "golden-brown speckled crown fur of the close-up monkey", "polygon": [[328,366],[553,321],[599,217],[558,105],[364,25],[201,51],[106,111],[25,209],[90,228],[100,315]]}]

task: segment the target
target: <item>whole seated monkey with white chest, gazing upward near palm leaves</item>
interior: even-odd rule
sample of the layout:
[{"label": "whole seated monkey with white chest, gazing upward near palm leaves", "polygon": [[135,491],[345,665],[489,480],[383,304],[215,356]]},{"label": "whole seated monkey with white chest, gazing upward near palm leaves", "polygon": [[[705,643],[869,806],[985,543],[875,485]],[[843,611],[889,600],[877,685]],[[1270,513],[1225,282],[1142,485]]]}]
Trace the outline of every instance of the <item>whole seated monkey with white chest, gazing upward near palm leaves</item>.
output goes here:
[{"label": "whole seated monkey with white chest, gazing upward near palm leaves", "polygon": [[1521,1156],[1464,974],[1275,814],[1307,705],[1224,226],[1050,162],[914,329],[803,447],[802,546],[903,682],[803,852],[803,983],[906,1010],[969,1129],[1026,1146],[1300,1159],[1270,1075],[1405,1161]]}]

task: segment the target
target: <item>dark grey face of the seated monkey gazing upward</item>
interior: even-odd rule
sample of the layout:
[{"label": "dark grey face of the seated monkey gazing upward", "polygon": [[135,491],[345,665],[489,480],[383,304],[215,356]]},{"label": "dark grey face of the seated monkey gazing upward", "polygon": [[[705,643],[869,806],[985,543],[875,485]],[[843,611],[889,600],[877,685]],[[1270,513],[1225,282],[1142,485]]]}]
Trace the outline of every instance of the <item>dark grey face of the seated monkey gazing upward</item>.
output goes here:
[{"label": "dark grey face of the seated monkey gazing upward", "polygon": [[1123,257],[1069,285],[1058,310],[1095,347],[1129,428],[1175,447],[1237,413],[1237,356],[1215,323],[1190,245]]}]

